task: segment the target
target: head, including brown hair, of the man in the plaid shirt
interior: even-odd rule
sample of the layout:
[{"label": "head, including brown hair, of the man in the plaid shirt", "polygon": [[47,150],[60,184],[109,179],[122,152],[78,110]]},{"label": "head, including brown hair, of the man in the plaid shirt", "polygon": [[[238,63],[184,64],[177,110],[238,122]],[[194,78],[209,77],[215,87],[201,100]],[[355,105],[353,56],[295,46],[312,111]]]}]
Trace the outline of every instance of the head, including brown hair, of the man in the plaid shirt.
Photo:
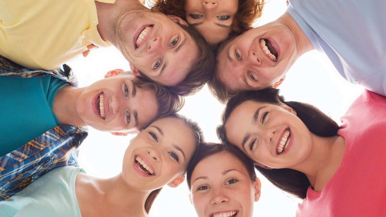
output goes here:
[{"label": "head, including brown hair, of the man in the plaid shirt", "polygon": [[182,108],[181,96],[122,72],[83,88],[76,111],[86,125],[101,131],[138,132],[153,119]]}]

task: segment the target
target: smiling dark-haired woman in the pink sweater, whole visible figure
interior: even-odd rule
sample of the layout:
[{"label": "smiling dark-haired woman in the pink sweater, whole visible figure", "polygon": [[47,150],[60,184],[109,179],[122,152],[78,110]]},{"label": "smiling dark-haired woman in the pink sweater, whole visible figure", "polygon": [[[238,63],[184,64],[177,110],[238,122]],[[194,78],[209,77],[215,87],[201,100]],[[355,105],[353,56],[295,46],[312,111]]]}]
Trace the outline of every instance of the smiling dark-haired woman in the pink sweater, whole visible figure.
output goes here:
[{"label": "smiling dark-haired woman in the pink sweater, whole visible figure", "polygon": [[286,102],[278,92],[231,98],[219,139],[248,155],[275,186],[304,199],[297,216],[383,216],[386,98],[365,90],[338,126],[317,108]]}]

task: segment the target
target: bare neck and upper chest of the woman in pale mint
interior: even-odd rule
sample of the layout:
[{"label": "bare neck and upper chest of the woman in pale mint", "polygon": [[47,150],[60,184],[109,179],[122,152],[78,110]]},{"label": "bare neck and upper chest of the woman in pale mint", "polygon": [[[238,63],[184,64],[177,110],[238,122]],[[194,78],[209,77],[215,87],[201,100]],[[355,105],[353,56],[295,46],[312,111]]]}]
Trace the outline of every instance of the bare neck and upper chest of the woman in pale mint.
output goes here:
[{"label": "bare neck and upper chest of the woman in pale mint", "polygon": [[82,174],[75,189],[82,216],[147,216],[144,206],[150,191],[130,188],[121,173],[109,179]]}]

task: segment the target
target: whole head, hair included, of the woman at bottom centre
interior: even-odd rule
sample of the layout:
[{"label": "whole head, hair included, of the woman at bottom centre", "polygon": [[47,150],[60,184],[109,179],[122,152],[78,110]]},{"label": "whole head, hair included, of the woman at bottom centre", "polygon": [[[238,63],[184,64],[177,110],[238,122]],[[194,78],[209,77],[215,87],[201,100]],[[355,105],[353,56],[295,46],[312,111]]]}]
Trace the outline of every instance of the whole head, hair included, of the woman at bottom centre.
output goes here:
[{"label": "whole head, hair included, of the woman at bottom centre", "polygon": [[233,145],[201,145],[188,166],[187,184],[200,217],[229,212],[251,217],[260,197],[253,161]]}]

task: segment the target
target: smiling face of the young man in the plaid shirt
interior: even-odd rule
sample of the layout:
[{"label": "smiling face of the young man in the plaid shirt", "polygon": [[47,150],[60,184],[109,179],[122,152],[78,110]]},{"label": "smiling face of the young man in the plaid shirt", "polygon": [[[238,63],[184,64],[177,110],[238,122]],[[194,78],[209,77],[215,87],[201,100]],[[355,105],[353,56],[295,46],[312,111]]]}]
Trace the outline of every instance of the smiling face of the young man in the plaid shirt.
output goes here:
[{"label": "smiling face of the young man in the plaid shirt", "polygon": [[153,90],[133,85],[132,75],[117,75],[97,81],[83,90],[76,101],[80,118],[97,130],[138,131],[157,116]]}]

